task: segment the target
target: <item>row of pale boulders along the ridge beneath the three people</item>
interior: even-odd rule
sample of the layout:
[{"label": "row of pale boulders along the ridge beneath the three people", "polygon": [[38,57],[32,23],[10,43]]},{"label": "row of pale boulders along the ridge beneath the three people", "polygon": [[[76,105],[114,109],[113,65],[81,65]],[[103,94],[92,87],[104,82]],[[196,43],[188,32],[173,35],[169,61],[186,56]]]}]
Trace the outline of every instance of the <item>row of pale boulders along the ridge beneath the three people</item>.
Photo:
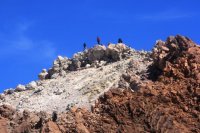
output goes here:
[{"label": "row of pale boulders along the ridge beneath the three people", "polygon": [[134,50],[125,44],[95,45],[93,48],[74,54],[72,59],[58,56],[53,67],[46,71],[44,69],[39,74],[39,79],[55,79],[64,76],[70,71],[77,71],[88,67],[100,67],[107,63],[120,61],[129,58],[134,54]]}]

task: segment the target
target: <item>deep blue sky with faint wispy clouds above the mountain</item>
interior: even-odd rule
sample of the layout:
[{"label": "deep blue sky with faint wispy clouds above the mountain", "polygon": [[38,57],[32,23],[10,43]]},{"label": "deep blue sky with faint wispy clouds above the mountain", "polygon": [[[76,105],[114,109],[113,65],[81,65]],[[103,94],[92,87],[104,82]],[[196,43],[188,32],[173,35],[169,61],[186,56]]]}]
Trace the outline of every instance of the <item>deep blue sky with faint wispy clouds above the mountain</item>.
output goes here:
[{"label": "deep blue sky with faint wispy clouds above the mountain", "polygon": [[176,34],[200,42],[199,0],[0,0],[0,92],[36,80],[96,36],[151,50]]}]

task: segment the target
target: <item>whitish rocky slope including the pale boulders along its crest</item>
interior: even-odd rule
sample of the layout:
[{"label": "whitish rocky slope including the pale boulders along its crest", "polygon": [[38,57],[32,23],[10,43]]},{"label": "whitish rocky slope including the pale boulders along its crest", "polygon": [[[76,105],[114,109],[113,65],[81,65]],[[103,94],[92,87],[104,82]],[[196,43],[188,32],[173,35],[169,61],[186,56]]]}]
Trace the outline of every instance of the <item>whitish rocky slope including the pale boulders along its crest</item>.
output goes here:
[{"label": "whitish rocky slope including the pale boulders along its crest", "polygon": [[[138,77],[145,73],[151,63],[148,56],[124,44],[110,44],[107,48],[96,45],[75,54],[72,59],[58,56],[52,68],[42,70],[39,81],[6,90],[0,104],[12,105],[19,111],[48,113],[64,112],[73,106],[90,110],[104,92],[125,85],[121,76],[129,67],[134,66]],[[129,88],[128,83],[126,88]]]}]

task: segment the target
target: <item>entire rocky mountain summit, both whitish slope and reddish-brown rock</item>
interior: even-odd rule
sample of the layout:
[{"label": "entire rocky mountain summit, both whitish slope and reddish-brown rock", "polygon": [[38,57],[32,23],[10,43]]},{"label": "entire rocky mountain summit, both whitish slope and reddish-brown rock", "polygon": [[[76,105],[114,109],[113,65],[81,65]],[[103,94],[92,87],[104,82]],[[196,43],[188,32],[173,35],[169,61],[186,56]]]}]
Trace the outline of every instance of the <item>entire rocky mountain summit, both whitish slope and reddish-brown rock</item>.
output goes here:
[{"label": "entire rocky mountain summit, both whitish slope and reddish-brown rock", "polygon": [[200,46],[123,43],[58,56],[39,80],[0,94],[0,133],[200,132]]}]

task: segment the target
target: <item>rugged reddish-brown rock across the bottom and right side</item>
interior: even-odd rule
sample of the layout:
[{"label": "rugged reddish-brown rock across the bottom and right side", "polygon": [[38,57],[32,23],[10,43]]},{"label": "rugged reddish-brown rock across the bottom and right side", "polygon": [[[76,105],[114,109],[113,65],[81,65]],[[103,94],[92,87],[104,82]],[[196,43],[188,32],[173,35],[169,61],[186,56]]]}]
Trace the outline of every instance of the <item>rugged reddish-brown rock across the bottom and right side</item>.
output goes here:
[{"label": "rugged reddish-brown rock across the bottom and right side", "polygon": [[127,83],[132,87],[110,89],[95,102],[92,112],[73,107],[57,114],[56,120],[45,112],[18,113],[1,106],[0,132],[198,133],[199,57],[200,47],[190,39],[169,37],[157,42],[152,51],[154,62],[149,72],[153,76],[149,80],[137,77],[132,66],[121,79],[121,86]]}]

